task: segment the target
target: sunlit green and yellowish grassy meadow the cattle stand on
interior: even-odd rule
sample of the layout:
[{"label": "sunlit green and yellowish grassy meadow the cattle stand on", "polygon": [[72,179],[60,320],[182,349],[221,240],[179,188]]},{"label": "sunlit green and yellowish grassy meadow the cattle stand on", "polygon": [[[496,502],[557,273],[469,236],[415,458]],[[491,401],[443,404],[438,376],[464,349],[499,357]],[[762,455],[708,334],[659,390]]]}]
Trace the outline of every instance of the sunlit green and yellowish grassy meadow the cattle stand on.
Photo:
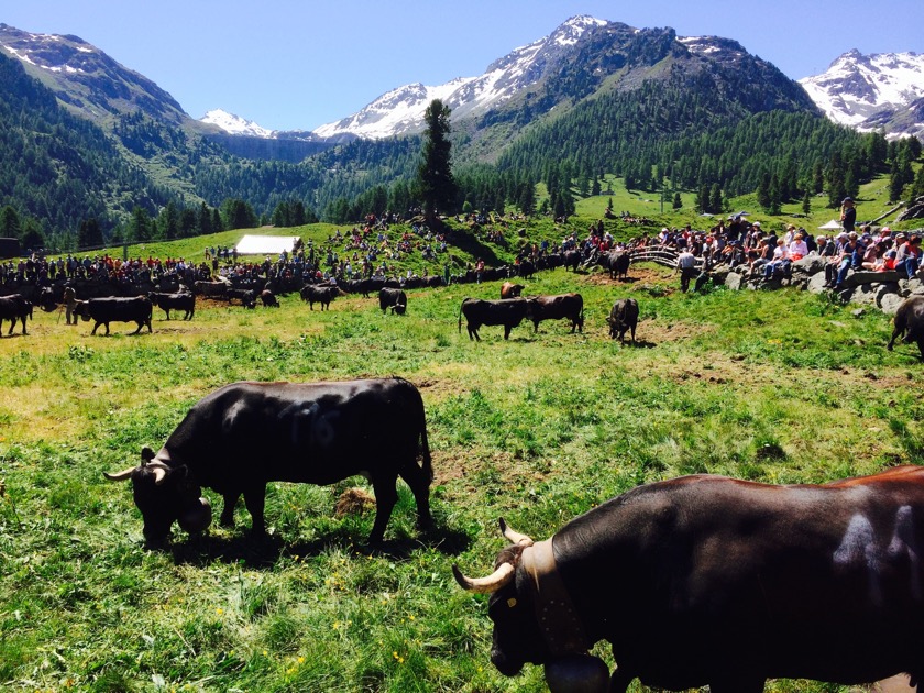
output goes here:
[{"label": "sunlit green and yellowish grassy meadow the cattle stand on", "polygon": [[[541,691],[541,668],[494,670],[486,598],[450,572],[490,571],[498,516],[540,539],[679,474],[824,482],[924,463],[924,369],[915,346],[886,351],[888,317],[787,289],[682,295],[658,266],[631,275],[537,275],[526,293],[583,294],[584,333],[524,323],[508,342],[458,331],[462,298],[498,283],[410,292],[405,317],[355,296],[324,312],[295,295],[250,311],[200,301],[189,322],[155,309],[153,334],[113,323],[108,338],[36,311],[29,336],[0,340],[0,688]],[[624,296],[640,304],[636,346],[606,331]],[[344,490],[371,492],[351,479],[272,484],[264,542],[240,504],[234,529],[176,529],[152,551],[129,485],[102,476],[226,383],[392,374],[427,407],[430,536],[399,482],[385,550],[366,551],[373,513],[333,512]]]}]

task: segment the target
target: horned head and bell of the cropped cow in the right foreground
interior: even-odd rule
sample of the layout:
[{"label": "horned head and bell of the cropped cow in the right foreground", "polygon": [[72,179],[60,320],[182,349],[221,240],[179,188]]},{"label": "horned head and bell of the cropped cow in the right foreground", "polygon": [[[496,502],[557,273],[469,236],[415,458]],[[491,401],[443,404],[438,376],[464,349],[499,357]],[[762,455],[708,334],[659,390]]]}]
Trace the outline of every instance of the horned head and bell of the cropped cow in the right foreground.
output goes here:
[{"label": "horned head and bell of the cropped cow in the right foreground", "polygon": [[501,551],[494,572],[487,578],[466,578],[452,566],[457,582],[470,592],[490,593],[487,614],[494,622],[491,662],[505,676],[513,676],[527,662],[544,664],[546,682],[552,693],[572,691],[603,692],[609,684],[609,671],[596,657],[573,653],[556,657],[542,636],[536,615],[532,579],[517,570],[522,552],[534,541],[510,530],[501,520],[501,531],[513,542]]}]

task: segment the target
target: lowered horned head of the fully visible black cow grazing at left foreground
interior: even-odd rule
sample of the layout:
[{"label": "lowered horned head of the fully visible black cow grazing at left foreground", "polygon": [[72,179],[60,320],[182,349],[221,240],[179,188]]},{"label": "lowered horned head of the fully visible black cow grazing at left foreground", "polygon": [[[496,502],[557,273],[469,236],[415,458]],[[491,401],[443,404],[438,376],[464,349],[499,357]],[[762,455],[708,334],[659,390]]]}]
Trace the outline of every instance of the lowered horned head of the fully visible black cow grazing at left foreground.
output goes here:
[{"label": "lowered horned head of the fully visible black cow grazing at left foreground", "polygon": [[150,448],[144,448],[140,465],[103,474],[110,481],[131,480],[134,502],[144,519],[144,537],[151,542],[166,539],[174,521],[190,535],[211,525],[211,505],[201,496],[189,469],[172,466],[168,461],[165,451],[155,457]]}]

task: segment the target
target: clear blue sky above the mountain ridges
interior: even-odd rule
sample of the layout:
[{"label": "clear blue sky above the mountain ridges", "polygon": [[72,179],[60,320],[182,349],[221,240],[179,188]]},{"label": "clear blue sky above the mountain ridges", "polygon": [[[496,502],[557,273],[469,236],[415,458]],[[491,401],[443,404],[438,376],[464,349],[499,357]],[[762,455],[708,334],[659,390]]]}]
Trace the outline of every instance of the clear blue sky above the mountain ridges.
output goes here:
[{"label": "clear blue sky above the mountain ridges", "polygon": [[[482,74],[576,14],[735,38],[793,79],[840,54],[924,53],[922,0],[32,0],[0,22],[76,34],[194,118],[222,108],[312,130],[395,87]],[[13,7],[9,7],[13,6]]]}]

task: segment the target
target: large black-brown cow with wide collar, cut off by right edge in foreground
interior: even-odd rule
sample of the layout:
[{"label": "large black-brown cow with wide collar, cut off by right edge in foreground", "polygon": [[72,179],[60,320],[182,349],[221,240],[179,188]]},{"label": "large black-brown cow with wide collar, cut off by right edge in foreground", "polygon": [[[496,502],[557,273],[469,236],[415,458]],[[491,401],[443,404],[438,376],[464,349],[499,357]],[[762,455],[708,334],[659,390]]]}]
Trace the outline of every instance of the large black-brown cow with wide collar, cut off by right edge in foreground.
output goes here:
[{"label": "large black-brown cow with wide collar, cut off by right edge in foreground", "polygon": [[[505,529],[502,524],[502,529]],[[825,485],[685,476],[635,488],[546,541],[514,546],[490,578],[491,660],[546,666],[550,689],[632,679],[759,693],[767,679],[924,682],[924,468]],[[542,617],[540,620],[539,617]]]}]

